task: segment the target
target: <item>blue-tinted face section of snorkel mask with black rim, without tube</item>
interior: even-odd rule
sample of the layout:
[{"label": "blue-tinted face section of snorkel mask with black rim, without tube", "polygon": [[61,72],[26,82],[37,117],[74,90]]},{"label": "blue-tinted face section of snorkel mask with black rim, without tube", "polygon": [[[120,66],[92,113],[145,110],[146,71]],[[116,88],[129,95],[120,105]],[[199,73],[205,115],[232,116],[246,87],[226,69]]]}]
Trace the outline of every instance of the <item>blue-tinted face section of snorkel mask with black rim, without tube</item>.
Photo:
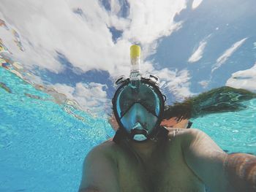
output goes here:
[{"label": "blue-tinted face section of snorkel mask with black rim, without tube", "polygon": [[120,128],[136,141],[146,140],[154,134],[163,108],[162,93],[154,83],[144,78],[137,87],[127,79],[113,98],[113,110]]}]

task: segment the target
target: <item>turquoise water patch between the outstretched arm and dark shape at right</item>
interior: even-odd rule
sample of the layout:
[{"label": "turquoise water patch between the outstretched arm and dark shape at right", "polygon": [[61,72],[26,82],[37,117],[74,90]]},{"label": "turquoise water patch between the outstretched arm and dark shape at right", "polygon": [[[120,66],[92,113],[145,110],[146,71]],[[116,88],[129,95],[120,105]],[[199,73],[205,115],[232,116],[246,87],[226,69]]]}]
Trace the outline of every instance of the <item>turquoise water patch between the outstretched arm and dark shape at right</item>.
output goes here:
[{"label": "turquoise water patch between the outstretched arm and dark shape at right", "polygon": [[256,99],[244,101],[246,110],[207,115],[193,120],[192,127],[200,128],[228,153],[256,155]]}]

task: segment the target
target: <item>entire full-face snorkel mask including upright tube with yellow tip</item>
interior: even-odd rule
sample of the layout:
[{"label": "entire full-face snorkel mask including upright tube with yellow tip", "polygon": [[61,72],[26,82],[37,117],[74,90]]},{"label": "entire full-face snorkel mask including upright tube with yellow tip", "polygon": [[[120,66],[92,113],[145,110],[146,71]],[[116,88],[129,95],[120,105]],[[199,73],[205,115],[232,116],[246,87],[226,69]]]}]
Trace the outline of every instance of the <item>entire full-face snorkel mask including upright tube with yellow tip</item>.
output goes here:
[{"label": "entire full-face snorkel mask including upright tube with yellow tip", "polygon": [[162,120],[165,96],[159,91],[158,77],[140,75],[140,47],[132,45],[130,77],[116,80],[113,112],[119,128],[129,139],[143,142],[153,139]]}]

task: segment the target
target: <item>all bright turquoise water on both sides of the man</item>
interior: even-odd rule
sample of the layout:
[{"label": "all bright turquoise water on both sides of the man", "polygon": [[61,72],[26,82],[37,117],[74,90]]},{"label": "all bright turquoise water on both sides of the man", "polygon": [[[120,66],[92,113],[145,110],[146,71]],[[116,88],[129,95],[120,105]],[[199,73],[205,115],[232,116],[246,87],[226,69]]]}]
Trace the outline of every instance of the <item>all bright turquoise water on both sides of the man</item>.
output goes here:
[{"label": "all bright turquoise water on both sides of the man", "polygon": [[[0,191],[77,191],[83,158],[114,132],[105,118],[57,104],[0,67]],[[33,95],[34,97],[31,97]],[[256,154],[256,100],[192,120],[228,153]]]}]

